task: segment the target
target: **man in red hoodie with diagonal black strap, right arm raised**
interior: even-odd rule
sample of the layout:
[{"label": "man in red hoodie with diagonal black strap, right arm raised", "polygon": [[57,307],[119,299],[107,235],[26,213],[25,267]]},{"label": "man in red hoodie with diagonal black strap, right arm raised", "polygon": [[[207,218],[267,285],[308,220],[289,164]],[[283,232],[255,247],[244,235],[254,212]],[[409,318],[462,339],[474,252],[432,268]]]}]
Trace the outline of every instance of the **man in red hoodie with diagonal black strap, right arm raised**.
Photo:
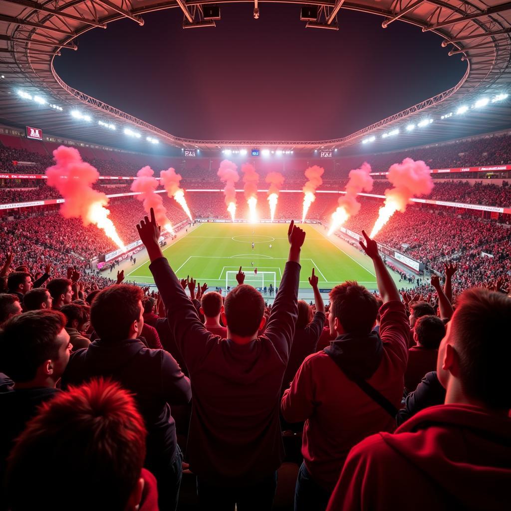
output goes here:
[{"label": "man in red hoodie with diagonal black strap, right arm raised", "polygon": [[[345,282],[330,294],[330,330],[337,338],[307,357],[282,398],[288,422],[305,421],[295,509],[324,509],[350,449],[377,431],[392,431],[403,395],[408,321],[396,284],[374,240],[361,245],[373,260],[380,335],[371,332],[378,313],[373,294]],[[340,390],[342,389],[342,390]]]}]

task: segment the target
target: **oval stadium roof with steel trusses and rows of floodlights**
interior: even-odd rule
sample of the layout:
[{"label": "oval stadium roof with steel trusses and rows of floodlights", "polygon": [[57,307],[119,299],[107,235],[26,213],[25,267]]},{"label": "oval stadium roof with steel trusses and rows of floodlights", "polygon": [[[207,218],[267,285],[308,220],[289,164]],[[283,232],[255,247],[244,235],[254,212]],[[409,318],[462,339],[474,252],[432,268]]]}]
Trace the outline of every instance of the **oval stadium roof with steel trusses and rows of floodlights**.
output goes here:
[{"label": "oval stadium roof with steel trusses and rows of floodlights", "polygon": [[[283,1],[303,5],[298,0]],[[451,89],[333,140],[204,141],[180,138],[70,87],[53,67],[54,57],[63,51],[76,50],[75,39],[88,30],[104,29],[109,22],[123,18],[143,25],[145,13],[169,8],[183,11],[183,27],[212,27],[215,22],[204,19],[204,7],[221,3],[223,0],[0,0],[0,76],[4,77],[0,79],[0,118],[18,126],[35,125],[55,135],[92,143],[101,140],[102,144],[117,147],[126,147],[124,128],[130,128],[141,136],[154,137],[171,146],[205,151],[227,147],[269,147],[310,152],[347,147],[362,141],[370,143],[371,150],[388,150],[396,130],[399,130],[399,144],[409,147],[511,126],[508,106],[503,106],[500,101],[492,102],[508,92],[511,78],[511,2],[499,0],[308,2],[308,5],[318,7],[316,20],[308,21],[308,27],[336,29],[342,9],[377,14],[382,17],[384,28],[394,21],[404,21],[423,32],[434,32],[442,38],[439,43],[450,48],[449,55],[461,55],[467,62],[466,73]],[[32,98],[40,95],[48,102],[24,101],[16,95],[15,88],[24,90]],[[481,98],[488,101],[483,99],[479,108],[477,102]],[[385,98],[377,100],[385,101]],[[50,109],[48,103],[63,110]],[[463,106],[468,107],[467,111],[463,111]],[[94,120],[77,122],[69,115],[74,109],[90,114]],[[98,127],[98,121],[105,126]],[[123,129],[109,129],[109,124]],[[409,125],[414,129],[407,130]],[[474,131],[475,125],[477,131]]]}]

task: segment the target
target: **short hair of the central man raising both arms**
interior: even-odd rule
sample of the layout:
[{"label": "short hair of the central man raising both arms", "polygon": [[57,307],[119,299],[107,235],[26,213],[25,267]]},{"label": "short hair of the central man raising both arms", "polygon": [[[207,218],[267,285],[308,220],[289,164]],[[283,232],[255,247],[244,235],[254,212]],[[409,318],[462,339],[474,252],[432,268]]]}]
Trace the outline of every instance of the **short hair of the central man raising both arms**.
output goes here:
[{"label": "short hair of the central man raising both arms", "polygon": [[248,337],[257,333],[264,314],[264,299],[248,284],[236,286],[225,297],[225,318],[233,334]]}]

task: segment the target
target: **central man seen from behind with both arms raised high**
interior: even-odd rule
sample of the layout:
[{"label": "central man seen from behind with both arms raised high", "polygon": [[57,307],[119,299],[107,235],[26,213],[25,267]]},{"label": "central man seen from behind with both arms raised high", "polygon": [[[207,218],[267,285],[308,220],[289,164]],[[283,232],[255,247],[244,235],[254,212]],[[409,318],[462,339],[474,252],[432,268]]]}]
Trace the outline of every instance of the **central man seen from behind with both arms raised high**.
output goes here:
[{"label": "central man seen from behind with both arms raised high", "polygon": [[264,326],[263,297],[241,284],[225,299],[227,340],[218,342],[200,322],[161,253],[152,209],[151,220],[137,227],[194,382],[187,456],[197,474],[200,507],[271,509],[284,454],[278,396],[297,318],[298,261],[305,233],[291,222],[289,259],[265,335],[257,337]]}]

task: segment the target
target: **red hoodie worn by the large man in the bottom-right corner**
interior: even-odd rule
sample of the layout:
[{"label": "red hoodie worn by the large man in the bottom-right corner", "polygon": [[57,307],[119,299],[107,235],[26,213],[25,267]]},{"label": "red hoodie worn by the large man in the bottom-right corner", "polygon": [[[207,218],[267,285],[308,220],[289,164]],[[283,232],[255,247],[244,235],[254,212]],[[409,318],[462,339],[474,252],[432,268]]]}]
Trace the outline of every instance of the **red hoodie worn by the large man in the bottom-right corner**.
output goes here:
[{"label": "red hoodie worn by the large man in the bottom-right corner", "polygon": [[328,511],[506,509],[511,420],[470,405],[423,410],[348,456]]}]

